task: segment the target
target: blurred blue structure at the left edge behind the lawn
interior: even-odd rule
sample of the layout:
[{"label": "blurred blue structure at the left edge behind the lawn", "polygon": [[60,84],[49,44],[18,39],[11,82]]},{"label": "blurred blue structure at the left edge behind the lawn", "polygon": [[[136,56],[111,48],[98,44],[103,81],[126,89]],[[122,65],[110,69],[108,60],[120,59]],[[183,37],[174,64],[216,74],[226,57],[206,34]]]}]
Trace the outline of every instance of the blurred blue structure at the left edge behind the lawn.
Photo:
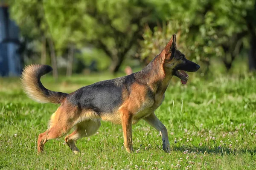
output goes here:
[{"label": "blurred blue structure at the left edge behind the lawn", "polygon": [[0,76],[20,75],[19,48],[19,28],[10,20],[8,6],[0,3]]}]

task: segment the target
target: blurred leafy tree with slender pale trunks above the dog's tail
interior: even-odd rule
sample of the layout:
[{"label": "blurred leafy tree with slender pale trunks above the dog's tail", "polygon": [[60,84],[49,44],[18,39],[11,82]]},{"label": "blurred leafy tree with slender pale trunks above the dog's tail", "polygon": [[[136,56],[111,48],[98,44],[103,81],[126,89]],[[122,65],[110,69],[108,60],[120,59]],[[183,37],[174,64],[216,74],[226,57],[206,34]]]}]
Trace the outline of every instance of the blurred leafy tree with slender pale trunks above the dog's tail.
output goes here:
[{"label": "blurred leafy tree with slender pale trunks above the dog's tail", "polygon": [[[41,41],[41,62],[45,64],[47,56],[47,44],[52,62],[52,74],[58,79],[57,62],[54,42],[45,20],[43,0],[10,0],[11,16],[19,25],[24,37],[34,41]],[[47,40],[47,41],[46,41]]]}]

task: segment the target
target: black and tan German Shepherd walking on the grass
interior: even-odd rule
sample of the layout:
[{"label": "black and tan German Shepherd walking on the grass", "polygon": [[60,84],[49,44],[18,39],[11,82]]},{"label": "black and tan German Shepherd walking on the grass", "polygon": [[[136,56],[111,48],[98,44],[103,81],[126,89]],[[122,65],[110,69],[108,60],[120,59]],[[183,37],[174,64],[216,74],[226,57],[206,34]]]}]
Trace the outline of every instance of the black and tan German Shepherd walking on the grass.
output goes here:
[{"label": "black and tan German Shepherd walking on the grass", "polygon": [[74,153],[78,153],[76,140],[93,135],[101,120],[121,124],[124,145],[128,153],[133,152],[132,124],[144,119],[160,132],[163,150],[170,151],[168,133],[154,111],[162,104],[164,93],[173,76],[182,84],[188,81],[186,71],[197,71],[200,66],[186,59],[176,48],[173,34],[163,51],[143,70],[128,76],[96,82],[70,94],[50,91],[40,78],[52,71],[48,65],[28,65],[24,68],[21,81],[26,94],[37,102],[61,104],[52,114],[49,128],[38,136],[38,152],[44,144],[63,136],[74,127],[65,142]]}]

